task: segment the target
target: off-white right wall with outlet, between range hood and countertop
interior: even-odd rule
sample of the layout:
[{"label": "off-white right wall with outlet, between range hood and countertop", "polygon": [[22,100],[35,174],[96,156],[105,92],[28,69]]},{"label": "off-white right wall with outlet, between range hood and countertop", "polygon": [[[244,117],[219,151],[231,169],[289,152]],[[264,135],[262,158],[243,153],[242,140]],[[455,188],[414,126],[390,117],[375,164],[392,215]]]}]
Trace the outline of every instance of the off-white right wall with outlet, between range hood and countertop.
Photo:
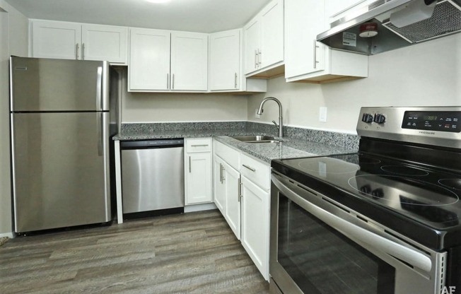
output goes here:
[{"label": "off-white right wall with outlet, between range hood and countertop", "polygon": [[[356,134],[362,106],[461,106],[461,34],[370,56],[368,78],[322,85],[269,80],[267,93],[250,98],[249,120],[277,120],[272,102],[255,119],[255,109],[267,96],[281,100],[286,125],[350,134]],[[318,119],[322,106],[327,122]]]}]

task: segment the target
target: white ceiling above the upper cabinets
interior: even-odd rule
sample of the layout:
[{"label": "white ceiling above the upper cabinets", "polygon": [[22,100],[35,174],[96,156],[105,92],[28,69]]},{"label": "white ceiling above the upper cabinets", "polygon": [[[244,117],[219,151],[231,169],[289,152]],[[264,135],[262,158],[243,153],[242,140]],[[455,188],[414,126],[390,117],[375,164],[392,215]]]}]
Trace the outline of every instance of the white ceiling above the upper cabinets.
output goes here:
[{"label": "white ceiling above the upper cabinets", "polygon": [[213,33],[242,28],[270,0],[6,0],[28,18]]}]

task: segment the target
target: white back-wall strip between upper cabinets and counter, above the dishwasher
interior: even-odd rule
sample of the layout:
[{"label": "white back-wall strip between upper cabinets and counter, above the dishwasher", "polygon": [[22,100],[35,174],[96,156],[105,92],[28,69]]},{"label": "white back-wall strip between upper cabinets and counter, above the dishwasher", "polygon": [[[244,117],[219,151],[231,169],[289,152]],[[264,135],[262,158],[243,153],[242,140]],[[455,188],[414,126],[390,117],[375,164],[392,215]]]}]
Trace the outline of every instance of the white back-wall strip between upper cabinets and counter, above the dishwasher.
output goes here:
[{"label": "white back-wall strip between upper cabinets and counter, above the dishwasher", "polygon": [[127,92],[124,71],[122,122],[222,122],[247,120],[247,96]]}]

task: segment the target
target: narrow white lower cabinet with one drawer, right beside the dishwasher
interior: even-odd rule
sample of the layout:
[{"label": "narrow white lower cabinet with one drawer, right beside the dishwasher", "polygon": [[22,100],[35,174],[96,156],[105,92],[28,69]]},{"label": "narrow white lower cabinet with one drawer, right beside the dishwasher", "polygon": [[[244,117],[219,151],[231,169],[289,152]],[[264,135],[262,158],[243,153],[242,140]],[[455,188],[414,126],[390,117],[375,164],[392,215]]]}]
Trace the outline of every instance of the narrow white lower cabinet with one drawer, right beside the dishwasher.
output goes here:
[{"label": "narrow white lower cabinet with one drawer, right beside the dishwasher", "polygon": [[213,202],[211,138],[185,139],[185,205]]}]

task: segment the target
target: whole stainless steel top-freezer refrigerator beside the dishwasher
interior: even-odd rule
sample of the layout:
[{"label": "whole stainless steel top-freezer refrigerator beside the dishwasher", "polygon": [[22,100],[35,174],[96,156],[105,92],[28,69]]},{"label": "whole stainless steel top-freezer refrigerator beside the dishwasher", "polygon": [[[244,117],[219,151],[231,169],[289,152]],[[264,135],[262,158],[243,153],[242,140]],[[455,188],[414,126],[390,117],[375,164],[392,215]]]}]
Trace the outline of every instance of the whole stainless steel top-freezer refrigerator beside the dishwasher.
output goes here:
[{"label": "whole stainless steel top-freezer refrigerator beside the dishwasher", "polygon": [[[11,57],[14,231],[107,223],[113,118],[107,61]],[[111,107],[112,106],[112,107]]]}]

